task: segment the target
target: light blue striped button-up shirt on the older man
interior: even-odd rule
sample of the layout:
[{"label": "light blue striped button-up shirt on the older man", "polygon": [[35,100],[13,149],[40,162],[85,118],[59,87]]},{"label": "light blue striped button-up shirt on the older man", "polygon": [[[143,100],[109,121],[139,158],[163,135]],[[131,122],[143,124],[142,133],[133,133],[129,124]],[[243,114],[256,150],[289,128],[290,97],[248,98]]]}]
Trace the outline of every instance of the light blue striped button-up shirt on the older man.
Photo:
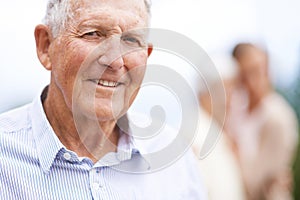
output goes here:
[{"label": "light blue striped button-up shirt on the older man", "polygon": [[151,168],[125,135],[116,153],[94,164],[59,141],[40,98],[2,114],[0,199],[206,199],[190,151],[156,172],[125,172]]}]

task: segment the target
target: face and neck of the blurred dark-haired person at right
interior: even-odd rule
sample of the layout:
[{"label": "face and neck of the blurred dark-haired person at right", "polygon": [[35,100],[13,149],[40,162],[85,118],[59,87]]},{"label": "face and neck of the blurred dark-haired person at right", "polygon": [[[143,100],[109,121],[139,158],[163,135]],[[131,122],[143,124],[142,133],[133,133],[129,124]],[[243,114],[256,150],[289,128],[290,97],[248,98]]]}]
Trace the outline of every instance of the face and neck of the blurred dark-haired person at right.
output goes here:
[{"label": "face and neck of the blurred dark-haired person at right", "polygon": [[245,48],[237,61],[241,82],[249,94],[249,111],[251,111],[271,91],[271,84],[266,53],[252,46]]}]

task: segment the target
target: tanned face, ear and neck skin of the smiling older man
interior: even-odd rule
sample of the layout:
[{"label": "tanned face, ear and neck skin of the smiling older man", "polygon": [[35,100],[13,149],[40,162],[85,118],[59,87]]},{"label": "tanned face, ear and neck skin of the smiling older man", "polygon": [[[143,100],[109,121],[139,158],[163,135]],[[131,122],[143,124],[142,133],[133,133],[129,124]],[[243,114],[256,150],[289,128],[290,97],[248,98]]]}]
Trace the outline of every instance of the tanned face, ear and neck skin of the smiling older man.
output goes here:
[{"label": "tanned face, ear and neck skin of the smiling older man", "polygon": [[140,0],[82,0],[72,9],[56,38],[45,25],[35,29],[38,57],[51,71],[44,109],[60,141],[96,162],[116,151],[116,120],[144,76],[152,47],[131,30],[147,27],[149,16]]}]

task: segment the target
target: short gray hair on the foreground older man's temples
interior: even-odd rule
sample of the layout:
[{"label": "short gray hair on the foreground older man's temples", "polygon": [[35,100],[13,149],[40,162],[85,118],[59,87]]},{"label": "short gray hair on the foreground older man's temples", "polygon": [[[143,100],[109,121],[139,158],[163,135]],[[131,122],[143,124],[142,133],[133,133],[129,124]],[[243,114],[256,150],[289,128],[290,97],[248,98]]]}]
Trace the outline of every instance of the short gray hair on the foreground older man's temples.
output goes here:
[{"label": "short gray hair on the foreground older man's temples", "polygon": [[[151,0],[144,0],[148,15],[151,15]],[[68,19],[73,17],[71,0],[49,0],[44,23],[49,26],[53,37],[66,28]]]}]

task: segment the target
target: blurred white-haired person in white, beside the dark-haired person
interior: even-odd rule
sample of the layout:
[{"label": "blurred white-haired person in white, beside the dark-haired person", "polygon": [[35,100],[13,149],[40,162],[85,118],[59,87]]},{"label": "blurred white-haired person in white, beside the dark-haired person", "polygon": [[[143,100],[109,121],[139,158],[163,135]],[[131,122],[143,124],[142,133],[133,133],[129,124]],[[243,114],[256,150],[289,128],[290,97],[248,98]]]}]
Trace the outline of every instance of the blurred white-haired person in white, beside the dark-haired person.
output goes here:
[{"label": "blurred white-haired person in white, beside the dark-haired person", "polygon": [[[199,83],[200,122],[193,150],[199,157],[200,147],[203,147],[206,136],[219,135],[214,148],[204,158],[198,160],[199,171],[207,187],[208,197],[210,200],[243,200],[246,196],[238,161],[232,151],[228,134],[222,130],[228,98],[223,102],[225,97],[221,95],[227,93],[227,96],[230,96],[237,66],[230,55],[214,55],[212,61],[221,79],[215,74],[204,74],[209,89],[204,86],[204,83]],[[224,86],[226,93],[224,93]]]}]

